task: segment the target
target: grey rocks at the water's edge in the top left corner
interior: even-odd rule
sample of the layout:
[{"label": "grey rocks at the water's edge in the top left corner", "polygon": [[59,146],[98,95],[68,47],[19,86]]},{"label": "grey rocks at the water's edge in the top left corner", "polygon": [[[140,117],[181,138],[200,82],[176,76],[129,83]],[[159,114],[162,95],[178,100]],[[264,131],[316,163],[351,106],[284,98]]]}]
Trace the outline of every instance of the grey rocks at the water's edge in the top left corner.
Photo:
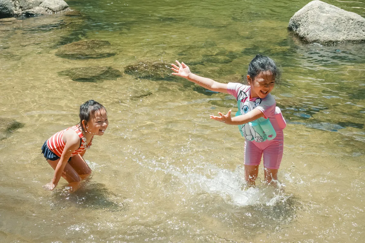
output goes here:
[{"label": "grey rocks at the water's edge in the top left corner", "polygon": [[64,0],[0,0],[0,18],[53,13],[68,7]]}]

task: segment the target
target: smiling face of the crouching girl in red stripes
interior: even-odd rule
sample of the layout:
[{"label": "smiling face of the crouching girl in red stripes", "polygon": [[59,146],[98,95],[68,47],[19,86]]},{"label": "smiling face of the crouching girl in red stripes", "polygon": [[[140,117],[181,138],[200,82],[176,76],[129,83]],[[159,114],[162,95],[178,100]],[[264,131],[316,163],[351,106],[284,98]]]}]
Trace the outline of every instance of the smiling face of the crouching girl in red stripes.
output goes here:
[{"label": "smiling face of the crouching girl in red stripes", "polygon": [[[82,125],[85,128],[85,120],[82,121]],[[85,132],[88,132],[91,135],[101,136],[104,134],[105,129],[107,129],[109,125],[108,114],[104,109],[96,111],[94,115],[90,114],[90,119],[86,123]]]}]

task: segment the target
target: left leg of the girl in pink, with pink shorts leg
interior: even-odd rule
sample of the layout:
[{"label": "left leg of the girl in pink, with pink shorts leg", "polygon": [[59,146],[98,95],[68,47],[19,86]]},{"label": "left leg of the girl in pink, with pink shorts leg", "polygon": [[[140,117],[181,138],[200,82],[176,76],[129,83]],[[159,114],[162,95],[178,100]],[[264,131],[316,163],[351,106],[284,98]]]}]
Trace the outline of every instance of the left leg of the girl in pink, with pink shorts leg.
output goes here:
[{"label": "left leg of the girl in pink, with pink shorts leg", "polygon": [[253,142],[245,141],[245,179],[247,184],[251,186],[255,185],[262,152]]}]

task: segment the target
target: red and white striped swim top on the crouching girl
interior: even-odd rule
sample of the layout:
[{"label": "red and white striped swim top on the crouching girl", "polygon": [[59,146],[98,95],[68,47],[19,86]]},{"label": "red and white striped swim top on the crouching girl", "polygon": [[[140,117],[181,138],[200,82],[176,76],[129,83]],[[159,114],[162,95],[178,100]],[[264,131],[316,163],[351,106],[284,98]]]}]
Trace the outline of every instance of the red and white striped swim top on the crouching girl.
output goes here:
[{"label": "red and white striped swim top on the crouching girl", "polygon": [[62,152],[64,151],[64,148],[65,148],[65,143],[64,143],[64,140],[62,139],[62,137],[63,137],[64,132],[67,129],[73,129],[77,133],[77,135],[80,137],[80,139],[81,139],[80,148],[76,149],[75,152],[73,152],[71,154],[71,157],[72,156],[75,156],[76,154],[81,153],[82,151],[84,151],[85,149],[87,149],[87,147],[91,146],[92,138],[91,138],[90,143],[87,145],[86,138],[82,135],[82,132],[80,131],[80,129],[78,129],[77,126],[72,126],[70,128],[66,128],[65,130],[62,130],[62,131],[54,134],[52,137],[50,137],[47,140],[47,146],[48,146],[48,148],[53,153],[55,153],[58,157],[61,157]]}]

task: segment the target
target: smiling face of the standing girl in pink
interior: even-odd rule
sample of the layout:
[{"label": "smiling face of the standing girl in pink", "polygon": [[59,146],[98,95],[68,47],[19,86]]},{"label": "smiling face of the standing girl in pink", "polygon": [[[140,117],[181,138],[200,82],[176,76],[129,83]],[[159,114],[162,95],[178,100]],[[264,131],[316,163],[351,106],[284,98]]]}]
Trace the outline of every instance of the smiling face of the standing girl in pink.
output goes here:
[{"label": "smiling face of the standing girl in pink", "polygon": [[274,88],[275,76],[270,71],[260,72],[254,79],[247,75],[247,82],[251,86],[250,98],[265,98]]}]

